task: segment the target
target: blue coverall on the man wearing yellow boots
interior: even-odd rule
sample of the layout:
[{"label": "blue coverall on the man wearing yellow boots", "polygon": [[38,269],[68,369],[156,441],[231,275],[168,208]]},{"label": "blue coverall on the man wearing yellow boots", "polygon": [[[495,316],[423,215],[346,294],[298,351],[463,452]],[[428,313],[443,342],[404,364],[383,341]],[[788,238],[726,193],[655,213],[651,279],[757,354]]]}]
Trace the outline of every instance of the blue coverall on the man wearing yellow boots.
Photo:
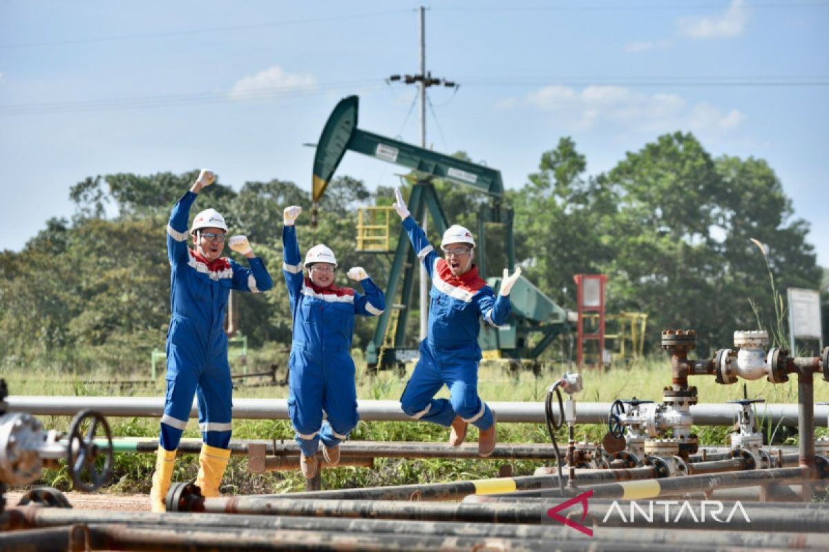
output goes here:
[{"label": "blue coverall on the man wearing yellow boots", "polygon": [[250,269],[227,257],[208,262],[187,247],[187,218],[196,194],[187,191],[167,224],[170,308],[167,330],[167,397],[161,420],[163,449],[175,450],[198,396],[199,429],[211,447],[230,444],[233,383],[227,362],[225,310],[230,290],[266,291],[274,286],[259,257]]}]

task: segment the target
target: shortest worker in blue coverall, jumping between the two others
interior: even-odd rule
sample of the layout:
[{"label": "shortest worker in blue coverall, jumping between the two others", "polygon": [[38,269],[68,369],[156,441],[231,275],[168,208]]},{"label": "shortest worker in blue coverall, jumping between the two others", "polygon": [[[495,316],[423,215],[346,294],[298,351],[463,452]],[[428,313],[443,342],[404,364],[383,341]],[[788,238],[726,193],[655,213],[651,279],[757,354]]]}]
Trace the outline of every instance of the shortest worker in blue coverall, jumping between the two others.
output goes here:
[{"label": "shortest worker in blue coverall, jumping between the two others", "polygon": [[[383,291],[371,281],[361,266],[347,272],[359,281],[366,295],[350,287],[334,284],[337,259],[328,247],[319,244],[308,249],[303,276],[302,256],[294,227],[302,208],[292,205],[284,210],[282,242],[285,263],[282,267],[288,285],[293,314],[293,343],[288,360],[288,413],[302,450],[300,468],[310,479],[317,473],[317,453],[322,439],[322,455],[330,465],[340,461],[340,443],[357,425],[354,360],[351,339],[354,316],[376,316],[385,309]],[[322,410],[327,420],[322,421]]]}]

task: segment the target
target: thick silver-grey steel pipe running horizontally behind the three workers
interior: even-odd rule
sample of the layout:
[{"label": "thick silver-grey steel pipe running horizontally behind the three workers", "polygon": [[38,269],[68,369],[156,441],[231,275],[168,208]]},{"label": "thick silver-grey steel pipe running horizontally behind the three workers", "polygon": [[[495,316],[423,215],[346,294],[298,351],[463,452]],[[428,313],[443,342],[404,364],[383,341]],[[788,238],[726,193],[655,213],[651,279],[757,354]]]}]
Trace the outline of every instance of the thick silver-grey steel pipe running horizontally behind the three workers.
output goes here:
[{"label": "thick silver-grey steel pipe running horizontally behind the three workers", "polygon": [[[91,408],[103,415],[126,417],[157,417],[164,410],[163,397],[111,397],[111,396],[7,396],[9,411],[29,412],[32,415],[75,415]],[[544,404],[538,402],[491,402],[497,411],[498,421],[513,423],[545,423]],[[580,424],[606,424],[610,403],[579,402],[576,405],[576,422]],[[691,406],[695,425],[730,425],[739,419],[739,405],[699,404]],[[797,405],[764,404],[757,408],[758,415],[773,425],[797,425]],[[412,421],[400,410],[398,401],[358,401],[360,419],[366,421]],[[558,416],[557,412],[554,412]],[[191,416],[196,417],[196,402]],[[237,420],[288,420],[286,399],[234,399],[233,417]],[[817,406],[814,420],[817,425],[827,425],[829,406]]]}]

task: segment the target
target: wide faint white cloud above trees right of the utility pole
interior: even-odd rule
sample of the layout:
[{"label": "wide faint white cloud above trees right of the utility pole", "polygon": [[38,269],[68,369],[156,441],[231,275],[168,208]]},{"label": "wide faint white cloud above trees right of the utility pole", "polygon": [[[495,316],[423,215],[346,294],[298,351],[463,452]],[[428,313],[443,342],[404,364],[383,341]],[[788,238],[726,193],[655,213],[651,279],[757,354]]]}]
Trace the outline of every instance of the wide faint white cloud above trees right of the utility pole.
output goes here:
[{"label": "wide faint white cloud above trees right of the utility pole", "polygon": [[530,106],[550,113],[555,125],[567,132],[617,127],[648,133],[728,132],[740,126],[744,114],[710,103],[690,103],[677,94],[646,94],[625,86],[588,86],[582,90],[561,85],[538,89],[525,98],[509,98],[502,108]]}]

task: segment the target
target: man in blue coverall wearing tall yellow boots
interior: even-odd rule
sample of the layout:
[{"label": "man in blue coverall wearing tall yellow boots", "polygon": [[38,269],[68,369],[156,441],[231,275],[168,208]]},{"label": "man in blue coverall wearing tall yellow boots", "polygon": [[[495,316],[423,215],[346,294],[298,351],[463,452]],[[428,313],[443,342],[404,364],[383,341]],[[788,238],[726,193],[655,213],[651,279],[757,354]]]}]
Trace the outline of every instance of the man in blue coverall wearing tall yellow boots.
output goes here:
[{"label": "man in blue coverall wearing tall yellow boots", "polygon": [[204,439],[196,485],[205,497],[219,496],[219,482],[230,458],[227,447],[233,409],[224,329],[227,299],[231,289],[258,292],[274,286],[245,236],[230,238],[228,245],[248,259],[250,268],[221,257],[227,224],[216,209],[206,209],[193,218],[190,234],[194,248],[187,247],[191,205],[196,195],[215,180],[210,170],[201,170],[195,184],[173,206],[167,224],[172,318],[167,330],[167,398],[150,491],[152,511],[165,511],[176,450],[194,394],[198,397],[199,429]]}]

